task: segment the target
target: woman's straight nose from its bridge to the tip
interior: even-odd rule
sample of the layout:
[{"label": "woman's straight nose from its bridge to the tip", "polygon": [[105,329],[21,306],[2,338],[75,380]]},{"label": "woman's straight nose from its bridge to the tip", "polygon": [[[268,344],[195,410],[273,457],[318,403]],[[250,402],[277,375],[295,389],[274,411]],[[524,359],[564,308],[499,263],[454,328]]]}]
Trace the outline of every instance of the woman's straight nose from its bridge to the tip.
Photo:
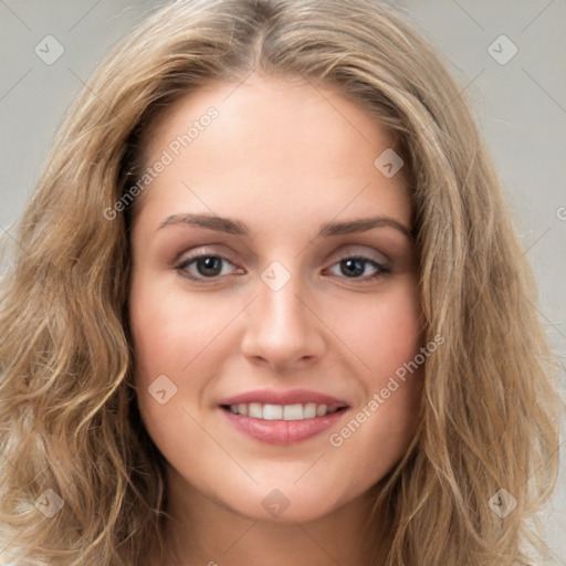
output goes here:
[{"label": "woman's straight nose from its bridge to the tip", "polygon": [[274,261],[261,273],[242,344],[248,357],[279,366],[321,355],[324,340],[305,306],[310,293],[296,265],[291,271]]}]

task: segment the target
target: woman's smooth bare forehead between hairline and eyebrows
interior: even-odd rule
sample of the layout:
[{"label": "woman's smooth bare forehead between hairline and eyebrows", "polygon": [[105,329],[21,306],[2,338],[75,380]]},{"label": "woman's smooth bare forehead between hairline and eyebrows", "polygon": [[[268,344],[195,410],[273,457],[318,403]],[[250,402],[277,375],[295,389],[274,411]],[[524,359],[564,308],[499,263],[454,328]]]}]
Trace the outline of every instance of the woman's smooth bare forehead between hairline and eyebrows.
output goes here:
[{"label": "woman's smooth bare forehead between hairline and eyebrows", "polygon": [[167,165],[144,191],[140,216],[155,226],[159,216],[195,211],[289,227],[376,208],[410,226],[401,175],[388,178],[375,165],[391,149],[389,133],[328,86],[255,75],[212,83],[151,129],[145,166]]}]

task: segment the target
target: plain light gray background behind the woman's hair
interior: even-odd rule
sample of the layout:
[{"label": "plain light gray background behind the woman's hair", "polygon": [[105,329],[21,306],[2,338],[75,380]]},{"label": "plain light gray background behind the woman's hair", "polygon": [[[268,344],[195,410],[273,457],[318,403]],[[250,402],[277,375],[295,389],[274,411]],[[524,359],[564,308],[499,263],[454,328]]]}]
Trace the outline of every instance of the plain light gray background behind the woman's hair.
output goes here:
[{"label": "plain light gray background behind the woman's hair", "polygon": [[[83,82],[112,44],[160,3],[0,0],[0,235],[10,237],[62,116]],[[538,312],[564,368],[566,2],[394,3],[440,50],[472,99],[535,271]],[[502,34],[512,43],[497,40]],[[64,49],[52,64],[34,52],[38,44],[46,51],[48,41],[49,53],[43,57],[56,53],[56,44],[44,40],[46,35],[53,35]],[[502,57],[512,53],[512,44],[517,53],[502,64]],[[564,391],[564,371],[560,381]],[[548,564],[566,566],[564,465],[545,523],[547,545],[554,554]]]}]

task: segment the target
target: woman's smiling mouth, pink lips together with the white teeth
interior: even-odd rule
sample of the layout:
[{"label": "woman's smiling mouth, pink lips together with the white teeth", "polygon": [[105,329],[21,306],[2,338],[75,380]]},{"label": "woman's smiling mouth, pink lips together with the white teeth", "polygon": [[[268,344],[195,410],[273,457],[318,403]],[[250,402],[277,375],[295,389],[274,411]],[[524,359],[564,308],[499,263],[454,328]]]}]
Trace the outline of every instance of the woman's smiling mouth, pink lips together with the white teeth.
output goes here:
[{"label": "woman's smiling mouth, pink lips together with the white teeth", "polygon": [[[300,402],[301,399],[306,402]],[[311,439],[336,426],[349,409],[345,401],[308,391],[263,390],[227,401],[219,408],[228,423],[244,436],[270,444],[294,444]]]}]

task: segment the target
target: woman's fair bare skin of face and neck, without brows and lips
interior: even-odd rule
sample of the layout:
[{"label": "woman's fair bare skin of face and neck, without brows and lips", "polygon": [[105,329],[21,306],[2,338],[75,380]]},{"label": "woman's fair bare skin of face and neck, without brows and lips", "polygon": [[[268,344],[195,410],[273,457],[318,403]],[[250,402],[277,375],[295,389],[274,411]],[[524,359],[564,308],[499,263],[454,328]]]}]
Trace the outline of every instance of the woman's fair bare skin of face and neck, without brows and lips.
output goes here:
[{"label": "woman's fair bare skin of face and neck, without brows and lips", "polygon": [[[168,564],[360,564],[369,490],[415,436],[420,369],[340,447],[328,437],[422,346],[417,261],[396,228],[316,234],[329,221],[374,216],[410,229],[408,190],[400,174],[386,178],[374,166],[391,147],[387,132],[339,93],[255,74],[234,88],[210,84],[159,120],[148,166],[207,108],[219,111],[138,197],[132,231],[135,385],[167,460]],[[250,234],[158,229],[186,212],[239,220]],[[199,253],[228,262],[208,280],[197,262],[176,269]],[[390,271],[370,279],[378,270],[366,262],[348,276],[340,260],[353,255]],[[290,275],[279,291],[261,277],[273,261]],[[159,375],[177,387],[164,405],[148,392]],[[349,409],[306,441],[266,444],[218,407],[262,387],[322,391]],[[289,502],[276,517],[262,505],[274,489]]]}]

